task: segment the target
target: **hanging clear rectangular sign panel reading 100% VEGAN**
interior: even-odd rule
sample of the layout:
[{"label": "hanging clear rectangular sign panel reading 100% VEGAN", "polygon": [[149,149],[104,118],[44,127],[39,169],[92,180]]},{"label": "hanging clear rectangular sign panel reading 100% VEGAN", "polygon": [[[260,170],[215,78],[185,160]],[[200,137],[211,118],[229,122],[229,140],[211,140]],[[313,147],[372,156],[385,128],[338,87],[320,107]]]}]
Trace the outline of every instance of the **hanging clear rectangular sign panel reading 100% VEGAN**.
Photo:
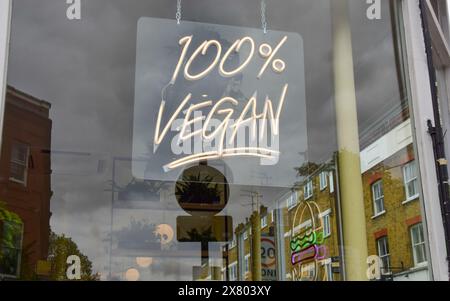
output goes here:
[{"label": "hanging clear rectangular sign panel reading 100% VEGAN", "polygon": [[135,80],[136,178],[174,181],[207,161],[230,184],[295,182],[307,145],[299,34],[141,18]]}]

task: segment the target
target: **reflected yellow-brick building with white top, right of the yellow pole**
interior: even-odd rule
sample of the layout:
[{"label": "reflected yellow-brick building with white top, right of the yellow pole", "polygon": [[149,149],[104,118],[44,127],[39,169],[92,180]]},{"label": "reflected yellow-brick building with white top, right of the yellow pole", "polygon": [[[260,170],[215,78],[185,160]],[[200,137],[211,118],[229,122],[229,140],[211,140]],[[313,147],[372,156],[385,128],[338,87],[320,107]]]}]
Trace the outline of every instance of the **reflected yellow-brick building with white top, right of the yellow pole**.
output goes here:
[{"label": "reflected yellow-brick building with white top, right of the yellow pole", "polygon": [[369,254],[394,280],[428,278],[410,120],[361,152]]}]

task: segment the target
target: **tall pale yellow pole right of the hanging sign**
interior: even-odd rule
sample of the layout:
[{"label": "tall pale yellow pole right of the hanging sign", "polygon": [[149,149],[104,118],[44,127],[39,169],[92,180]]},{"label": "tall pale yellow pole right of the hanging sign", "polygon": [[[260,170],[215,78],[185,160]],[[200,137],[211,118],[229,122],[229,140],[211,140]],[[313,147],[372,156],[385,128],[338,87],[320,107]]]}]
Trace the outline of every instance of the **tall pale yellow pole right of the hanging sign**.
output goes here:
[{"label": "tall pale yellow pole right of the hanging sign", "polygon": [[339,184],[347,280],[367,280],[367,234],[348,0],[332,0]]}]

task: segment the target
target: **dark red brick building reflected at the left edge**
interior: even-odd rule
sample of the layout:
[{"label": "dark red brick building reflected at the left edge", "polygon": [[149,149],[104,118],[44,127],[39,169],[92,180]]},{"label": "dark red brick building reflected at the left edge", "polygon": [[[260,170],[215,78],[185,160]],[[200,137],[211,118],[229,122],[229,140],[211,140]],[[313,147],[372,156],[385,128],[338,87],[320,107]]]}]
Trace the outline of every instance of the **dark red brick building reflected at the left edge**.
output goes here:
[{"label": "dark red brick building reflected at the left edge", "polygon": [[46,259],[50,231],[50,104],[12,87],[6,94],[0,201],[24,224],[22,266]]}]

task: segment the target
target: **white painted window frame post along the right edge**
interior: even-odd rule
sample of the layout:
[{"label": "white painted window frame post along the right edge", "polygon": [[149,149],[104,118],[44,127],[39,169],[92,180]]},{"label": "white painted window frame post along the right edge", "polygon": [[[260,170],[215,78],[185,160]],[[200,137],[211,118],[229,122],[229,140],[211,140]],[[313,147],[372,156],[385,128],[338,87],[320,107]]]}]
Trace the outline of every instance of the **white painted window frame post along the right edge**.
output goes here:
[{"label": "white painted window frame post along the right edge", "polygon": [[422,210],[426,220],[434,280],[448,281],[448,265],[443,220],[439,203],[438,183],[434,162],[433,144],[428,134],[427,120],[433,118],[428,65],[423,39],[418,0],[403,0],[403,17],[406,31],[409,80],[413,116],[413,134],[419,157],[422,177]]}]

